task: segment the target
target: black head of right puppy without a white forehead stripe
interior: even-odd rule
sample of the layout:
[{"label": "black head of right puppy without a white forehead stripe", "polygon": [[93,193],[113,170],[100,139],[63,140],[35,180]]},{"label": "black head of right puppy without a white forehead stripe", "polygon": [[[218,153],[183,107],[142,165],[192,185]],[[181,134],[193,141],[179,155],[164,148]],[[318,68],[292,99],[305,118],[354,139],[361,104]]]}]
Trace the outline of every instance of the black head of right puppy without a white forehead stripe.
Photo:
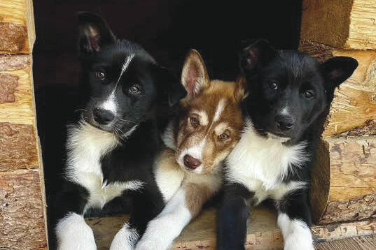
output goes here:
[{"label": "black head of right puppy without a white forehead stripe", "polygon": [[333,93],[358,66],[351,57],[322,64],[297,51],[277,51],[265,40],[242,50],[242,73],[249,87],[247,112],[260,134],[281,142],[302,139],[328,108]]}]

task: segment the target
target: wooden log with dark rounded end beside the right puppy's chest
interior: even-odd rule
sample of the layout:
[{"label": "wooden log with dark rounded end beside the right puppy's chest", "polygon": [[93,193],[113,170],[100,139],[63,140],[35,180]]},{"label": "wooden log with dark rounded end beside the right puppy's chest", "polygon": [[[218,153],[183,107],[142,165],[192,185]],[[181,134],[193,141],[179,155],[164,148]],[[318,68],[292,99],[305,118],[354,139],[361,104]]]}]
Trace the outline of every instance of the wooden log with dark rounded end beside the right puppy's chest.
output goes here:
[{"label": "wooden log with dark rounded end beside the right puppy's chest", "polygon": [[323,138],[312,173],[315,223],[376,218],[376,120]]}]

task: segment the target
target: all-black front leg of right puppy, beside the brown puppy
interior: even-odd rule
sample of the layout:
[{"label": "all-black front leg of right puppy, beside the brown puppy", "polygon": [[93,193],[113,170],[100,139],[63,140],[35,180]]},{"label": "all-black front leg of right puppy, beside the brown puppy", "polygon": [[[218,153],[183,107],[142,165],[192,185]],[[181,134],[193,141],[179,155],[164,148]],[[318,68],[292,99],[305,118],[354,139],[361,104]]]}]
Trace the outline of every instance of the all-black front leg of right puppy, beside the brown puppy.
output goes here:
[{"label": "all-black front leg of right puppy, beside the brown puppy", "polygon": [[245,249],[246,221],[249,207],[246,203],[254,193],[242,184],[225,185],[223,203],[217,214],[217,249]]}]

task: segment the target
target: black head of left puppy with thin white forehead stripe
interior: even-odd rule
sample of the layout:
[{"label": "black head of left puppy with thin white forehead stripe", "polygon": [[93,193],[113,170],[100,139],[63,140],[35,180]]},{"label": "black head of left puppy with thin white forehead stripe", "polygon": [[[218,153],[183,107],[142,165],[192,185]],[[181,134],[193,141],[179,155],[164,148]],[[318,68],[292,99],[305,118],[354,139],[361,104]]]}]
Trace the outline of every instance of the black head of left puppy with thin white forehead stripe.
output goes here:
[{"label": "black head of left puppy with thin white forehead stripe", "polygon": [[180,81],[141,46],[119,40],[98,15],[78,13],[78,51],[87,86],[83,119],[124,134],[186,95]]}]

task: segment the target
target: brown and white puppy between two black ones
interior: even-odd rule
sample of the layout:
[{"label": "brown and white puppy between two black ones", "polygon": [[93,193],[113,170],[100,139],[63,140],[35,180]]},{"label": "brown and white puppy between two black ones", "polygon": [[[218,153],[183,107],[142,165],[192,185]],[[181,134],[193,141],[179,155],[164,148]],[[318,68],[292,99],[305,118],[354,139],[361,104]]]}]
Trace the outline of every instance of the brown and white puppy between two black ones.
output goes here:
[{"label": "brown and white puppy between two black ones", "polygon": [[200,54],[190,50],[181,82],[188,92],[163,140],[155,176],[167,205],[136,249],[168,249],[202,205],[222,186],[222,163],[242,129],[242,82],[209,80]]}]

